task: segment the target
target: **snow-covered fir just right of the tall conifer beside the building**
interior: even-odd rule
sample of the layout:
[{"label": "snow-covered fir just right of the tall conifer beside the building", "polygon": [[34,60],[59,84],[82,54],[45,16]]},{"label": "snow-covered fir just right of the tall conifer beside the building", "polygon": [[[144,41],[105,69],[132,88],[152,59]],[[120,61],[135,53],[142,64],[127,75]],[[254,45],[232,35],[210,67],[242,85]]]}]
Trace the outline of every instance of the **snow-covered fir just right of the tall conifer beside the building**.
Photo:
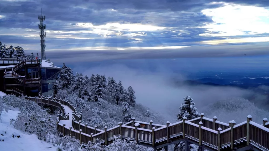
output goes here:
[{"label": "snow-covered fir just right of the tall conifer beside the building", "polygon": [[85,78],[81,73],[77,73],[73,90],[78,91],[79,98],[82,98],[83,100],[90,100],[90,92],[87,85],[87,78]]}]

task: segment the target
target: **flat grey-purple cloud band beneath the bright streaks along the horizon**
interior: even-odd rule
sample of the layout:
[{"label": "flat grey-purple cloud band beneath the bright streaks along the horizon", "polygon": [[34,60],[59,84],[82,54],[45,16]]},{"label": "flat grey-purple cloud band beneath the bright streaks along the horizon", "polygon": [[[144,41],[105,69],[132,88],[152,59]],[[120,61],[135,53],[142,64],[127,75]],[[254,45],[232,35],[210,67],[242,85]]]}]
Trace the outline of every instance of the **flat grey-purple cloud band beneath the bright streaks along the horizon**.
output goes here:
[{"label": "flat grey-purple cloud band beneath the bright streaks along the horizon", "polygon": [[[53,62],[95,62],[114,59],[202,58],[269,55],[268,44],[191,46],[180,49],[48,51]],[[252,62],[254,60],[251,60]]]}]

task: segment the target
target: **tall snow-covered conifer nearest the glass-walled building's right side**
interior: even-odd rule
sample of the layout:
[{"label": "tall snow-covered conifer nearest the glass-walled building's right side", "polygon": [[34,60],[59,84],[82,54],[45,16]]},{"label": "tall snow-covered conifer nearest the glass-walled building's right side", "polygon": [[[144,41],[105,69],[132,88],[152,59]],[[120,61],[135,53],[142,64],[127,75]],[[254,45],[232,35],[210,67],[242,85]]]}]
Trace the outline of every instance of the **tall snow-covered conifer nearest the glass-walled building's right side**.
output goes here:
[{"label": "tall snow-covered conifer nearest the glass-walled building's right side", "polygon": [[60,71],[59,77],[62,84],[62,88],[70,88],[75,78],[73,75],[73,70],[70,67],[67,67],[65,63],[63,63],[63,67]]}]

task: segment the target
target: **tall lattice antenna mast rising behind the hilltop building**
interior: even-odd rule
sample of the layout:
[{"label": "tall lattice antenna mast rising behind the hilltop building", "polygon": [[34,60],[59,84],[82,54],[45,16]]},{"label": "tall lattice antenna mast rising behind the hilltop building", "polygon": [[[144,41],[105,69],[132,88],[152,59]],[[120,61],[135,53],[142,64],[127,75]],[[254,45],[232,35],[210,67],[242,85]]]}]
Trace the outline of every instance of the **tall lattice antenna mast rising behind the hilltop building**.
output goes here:
[{"label": "tall lattice antenna mast rising behind the hilltop building", "polygon": [[46,24],[44,24],[45,20],[45,15],[42,15],[42,8],[41,8],[41,16],[38,15],[38,20],[40,21],[40,24],[38,24],[38,28],[40,29],[39,37],[41,38],[40,40],[40,45],[41,45],[41,58],[46,59],[46,53],[45,53],[45,37],[46,37],[46,32],[44,32],[44,29],[46,29]]}]

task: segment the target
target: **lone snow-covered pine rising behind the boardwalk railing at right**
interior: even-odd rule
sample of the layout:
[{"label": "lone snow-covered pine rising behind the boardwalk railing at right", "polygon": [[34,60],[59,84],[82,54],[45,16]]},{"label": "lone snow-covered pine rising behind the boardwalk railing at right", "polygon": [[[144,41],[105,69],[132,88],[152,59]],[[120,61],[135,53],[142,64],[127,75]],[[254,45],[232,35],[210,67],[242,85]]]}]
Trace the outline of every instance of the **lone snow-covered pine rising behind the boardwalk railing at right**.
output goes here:
[{"label": "lone snow-covered pine rising behind the boardwalk railing at right", "polygon": [[[190,96],[185,96],[183,99],[184,99],[184,103],[182,103],[181,106],[179,107],[177,120],[179,121],[183,120],[184,116],[188,120],[200,117],[200,113],[197,112],[197,108],[195,107],[195,103],[193,102],[193,99]],[[191,146],[189,147],[192,148]],[[185,150],[185,142],[180,142],[180,143],[175,144],[174,151],[183,151],[183,150]]]}]

